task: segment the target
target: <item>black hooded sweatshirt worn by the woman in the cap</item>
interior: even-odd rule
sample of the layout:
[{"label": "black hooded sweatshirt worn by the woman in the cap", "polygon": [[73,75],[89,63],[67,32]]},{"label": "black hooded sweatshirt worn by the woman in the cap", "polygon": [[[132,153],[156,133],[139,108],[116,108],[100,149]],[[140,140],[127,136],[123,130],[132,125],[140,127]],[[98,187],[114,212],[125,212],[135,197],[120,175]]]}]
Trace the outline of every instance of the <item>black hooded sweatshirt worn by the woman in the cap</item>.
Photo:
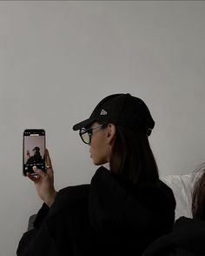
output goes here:
[{"label": "black hooded sweatshirt worn by the woman in the cap", "polygon": [[124,187],[104,167],[90,185],[69,186],[55,203],[43,205],[17,248],[18,256],[141,255],[175,219],[171,189]]}]

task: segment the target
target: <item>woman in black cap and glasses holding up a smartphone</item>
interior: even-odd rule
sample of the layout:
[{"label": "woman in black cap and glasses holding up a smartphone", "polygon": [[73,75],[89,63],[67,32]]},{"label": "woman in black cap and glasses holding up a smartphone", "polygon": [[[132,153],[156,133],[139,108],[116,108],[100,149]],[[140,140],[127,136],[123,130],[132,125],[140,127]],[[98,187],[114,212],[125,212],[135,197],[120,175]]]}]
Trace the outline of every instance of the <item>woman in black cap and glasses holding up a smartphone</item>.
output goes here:
[{"label": "woman in black cap and glasses holding up a smartphone", "polygon": [[103,98],[88,119],[74,125],[94,165],[101,166],[90,185],[56,193],[47,152],[47,173],[28,174],[44,204],[17,255],[137,256],[169,232],[175,199],[159,180],[149,146],[154,125],[147,105],[130,94]]}]

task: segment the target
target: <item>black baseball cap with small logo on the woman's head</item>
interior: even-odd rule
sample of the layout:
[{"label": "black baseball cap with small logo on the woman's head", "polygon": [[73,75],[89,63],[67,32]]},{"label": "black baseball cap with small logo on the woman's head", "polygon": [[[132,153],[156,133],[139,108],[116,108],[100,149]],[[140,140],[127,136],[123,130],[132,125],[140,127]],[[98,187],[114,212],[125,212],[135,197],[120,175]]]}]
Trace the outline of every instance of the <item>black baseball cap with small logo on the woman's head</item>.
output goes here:
[{"label": "black baseball cap with small logo on the woman's head", "polygon": [[74,125],[73,130],[89,127],[97,121],[129,129],[136,128],[145,131],[148,135],[155,126],[147,105],[141,98],[131,96],[129,93],[112,94],[103,98],[90,117]]}]

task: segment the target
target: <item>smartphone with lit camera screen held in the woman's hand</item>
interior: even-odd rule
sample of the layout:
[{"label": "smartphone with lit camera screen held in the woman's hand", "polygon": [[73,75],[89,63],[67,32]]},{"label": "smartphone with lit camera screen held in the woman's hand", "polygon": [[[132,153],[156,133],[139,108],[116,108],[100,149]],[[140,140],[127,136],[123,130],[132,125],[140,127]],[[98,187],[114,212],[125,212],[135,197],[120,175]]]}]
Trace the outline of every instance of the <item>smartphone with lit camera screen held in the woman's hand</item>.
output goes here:
[{"label": "smartphone with lit camera screen held in the woman's hand", "polygon": [[33,172],[33,166],[45,172],[45,131],[26,129],[23,131],[23,175]]}]

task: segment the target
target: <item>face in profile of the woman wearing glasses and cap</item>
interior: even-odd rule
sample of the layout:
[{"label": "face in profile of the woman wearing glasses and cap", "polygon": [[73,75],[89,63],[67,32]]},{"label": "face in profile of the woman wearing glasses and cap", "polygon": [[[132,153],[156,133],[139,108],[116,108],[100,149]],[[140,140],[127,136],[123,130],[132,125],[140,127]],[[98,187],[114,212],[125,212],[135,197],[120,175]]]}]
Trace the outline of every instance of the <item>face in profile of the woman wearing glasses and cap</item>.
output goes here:
[{"label": "face in profile of the woman wearing glasses and cap", "polygon": [[[99,126],[99,124],[94,123],[90,128],[95,128],[97,126]],[[111,153],[111,145],[109,143],[109,126],[93,131],[89,152],[94,165],[103,165],[109,162]]]}]

